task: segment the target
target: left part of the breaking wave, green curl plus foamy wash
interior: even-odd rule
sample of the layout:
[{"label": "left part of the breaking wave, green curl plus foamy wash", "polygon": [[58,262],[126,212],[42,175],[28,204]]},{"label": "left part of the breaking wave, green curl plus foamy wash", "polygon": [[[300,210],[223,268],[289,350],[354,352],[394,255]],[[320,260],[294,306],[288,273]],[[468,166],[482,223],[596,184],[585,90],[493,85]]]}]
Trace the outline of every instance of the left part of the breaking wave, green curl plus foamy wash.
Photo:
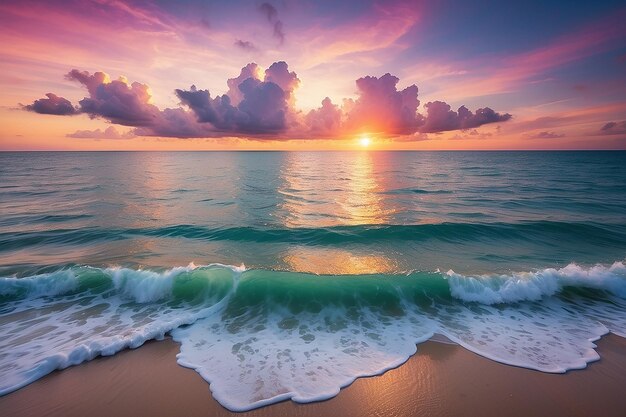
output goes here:
[{"label": "left part of the breaking wave, green curl plus foamy wash", "polygon": [[55,369],[163,339],[224,307],[241,268],[76,267],[0,279],[0,395]]}]

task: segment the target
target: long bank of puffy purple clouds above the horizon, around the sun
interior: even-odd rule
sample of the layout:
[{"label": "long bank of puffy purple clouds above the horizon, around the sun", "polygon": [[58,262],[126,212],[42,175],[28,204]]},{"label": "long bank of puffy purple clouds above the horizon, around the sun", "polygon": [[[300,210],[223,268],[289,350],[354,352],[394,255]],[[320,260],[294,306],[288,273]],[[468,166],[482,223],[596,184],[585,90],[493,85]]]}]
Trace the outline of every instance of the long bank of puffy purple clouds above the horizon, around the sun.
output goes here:
[{"label": "long bank of puffy purple clouds above the horizon, around the sun", "polygon": [[[301,81],[284,61],[274,62],[265,71],[256,63],[244,66],[237,77],[227,80],[228,91],[223,95],[212,96],[209,90],[195,85],[176,89],[181,107],[166,109],[152,104],[148,85],[131,83],[124,77],[111,80],[104,72],[91,74],[74,69],[66,78],[79,82],[87,90],[88,96],[79,101],[77,108],[54,94],[24,108],[52,114],[85,113],[134,127],[125,134],[109,128],[104,132],[77,131],[70,137],[119,139],[134,134],[289,140],[349,137],[366,132],[415,141],[425,140],[426,133],[471,130],[511,118],[510,114],[496,113],[488,107],[472,112],[461,106],[453,111],[443,101],[427,103],[424,116],[418,112],[417,86],[399,90],[399,79],[389,73],[357,79],[355,99],[344,99],[339,105],[326,97],[321,107],[303,113],[295,105],[295,93]],[[469,135],[472,134],[470,131]]]}]

